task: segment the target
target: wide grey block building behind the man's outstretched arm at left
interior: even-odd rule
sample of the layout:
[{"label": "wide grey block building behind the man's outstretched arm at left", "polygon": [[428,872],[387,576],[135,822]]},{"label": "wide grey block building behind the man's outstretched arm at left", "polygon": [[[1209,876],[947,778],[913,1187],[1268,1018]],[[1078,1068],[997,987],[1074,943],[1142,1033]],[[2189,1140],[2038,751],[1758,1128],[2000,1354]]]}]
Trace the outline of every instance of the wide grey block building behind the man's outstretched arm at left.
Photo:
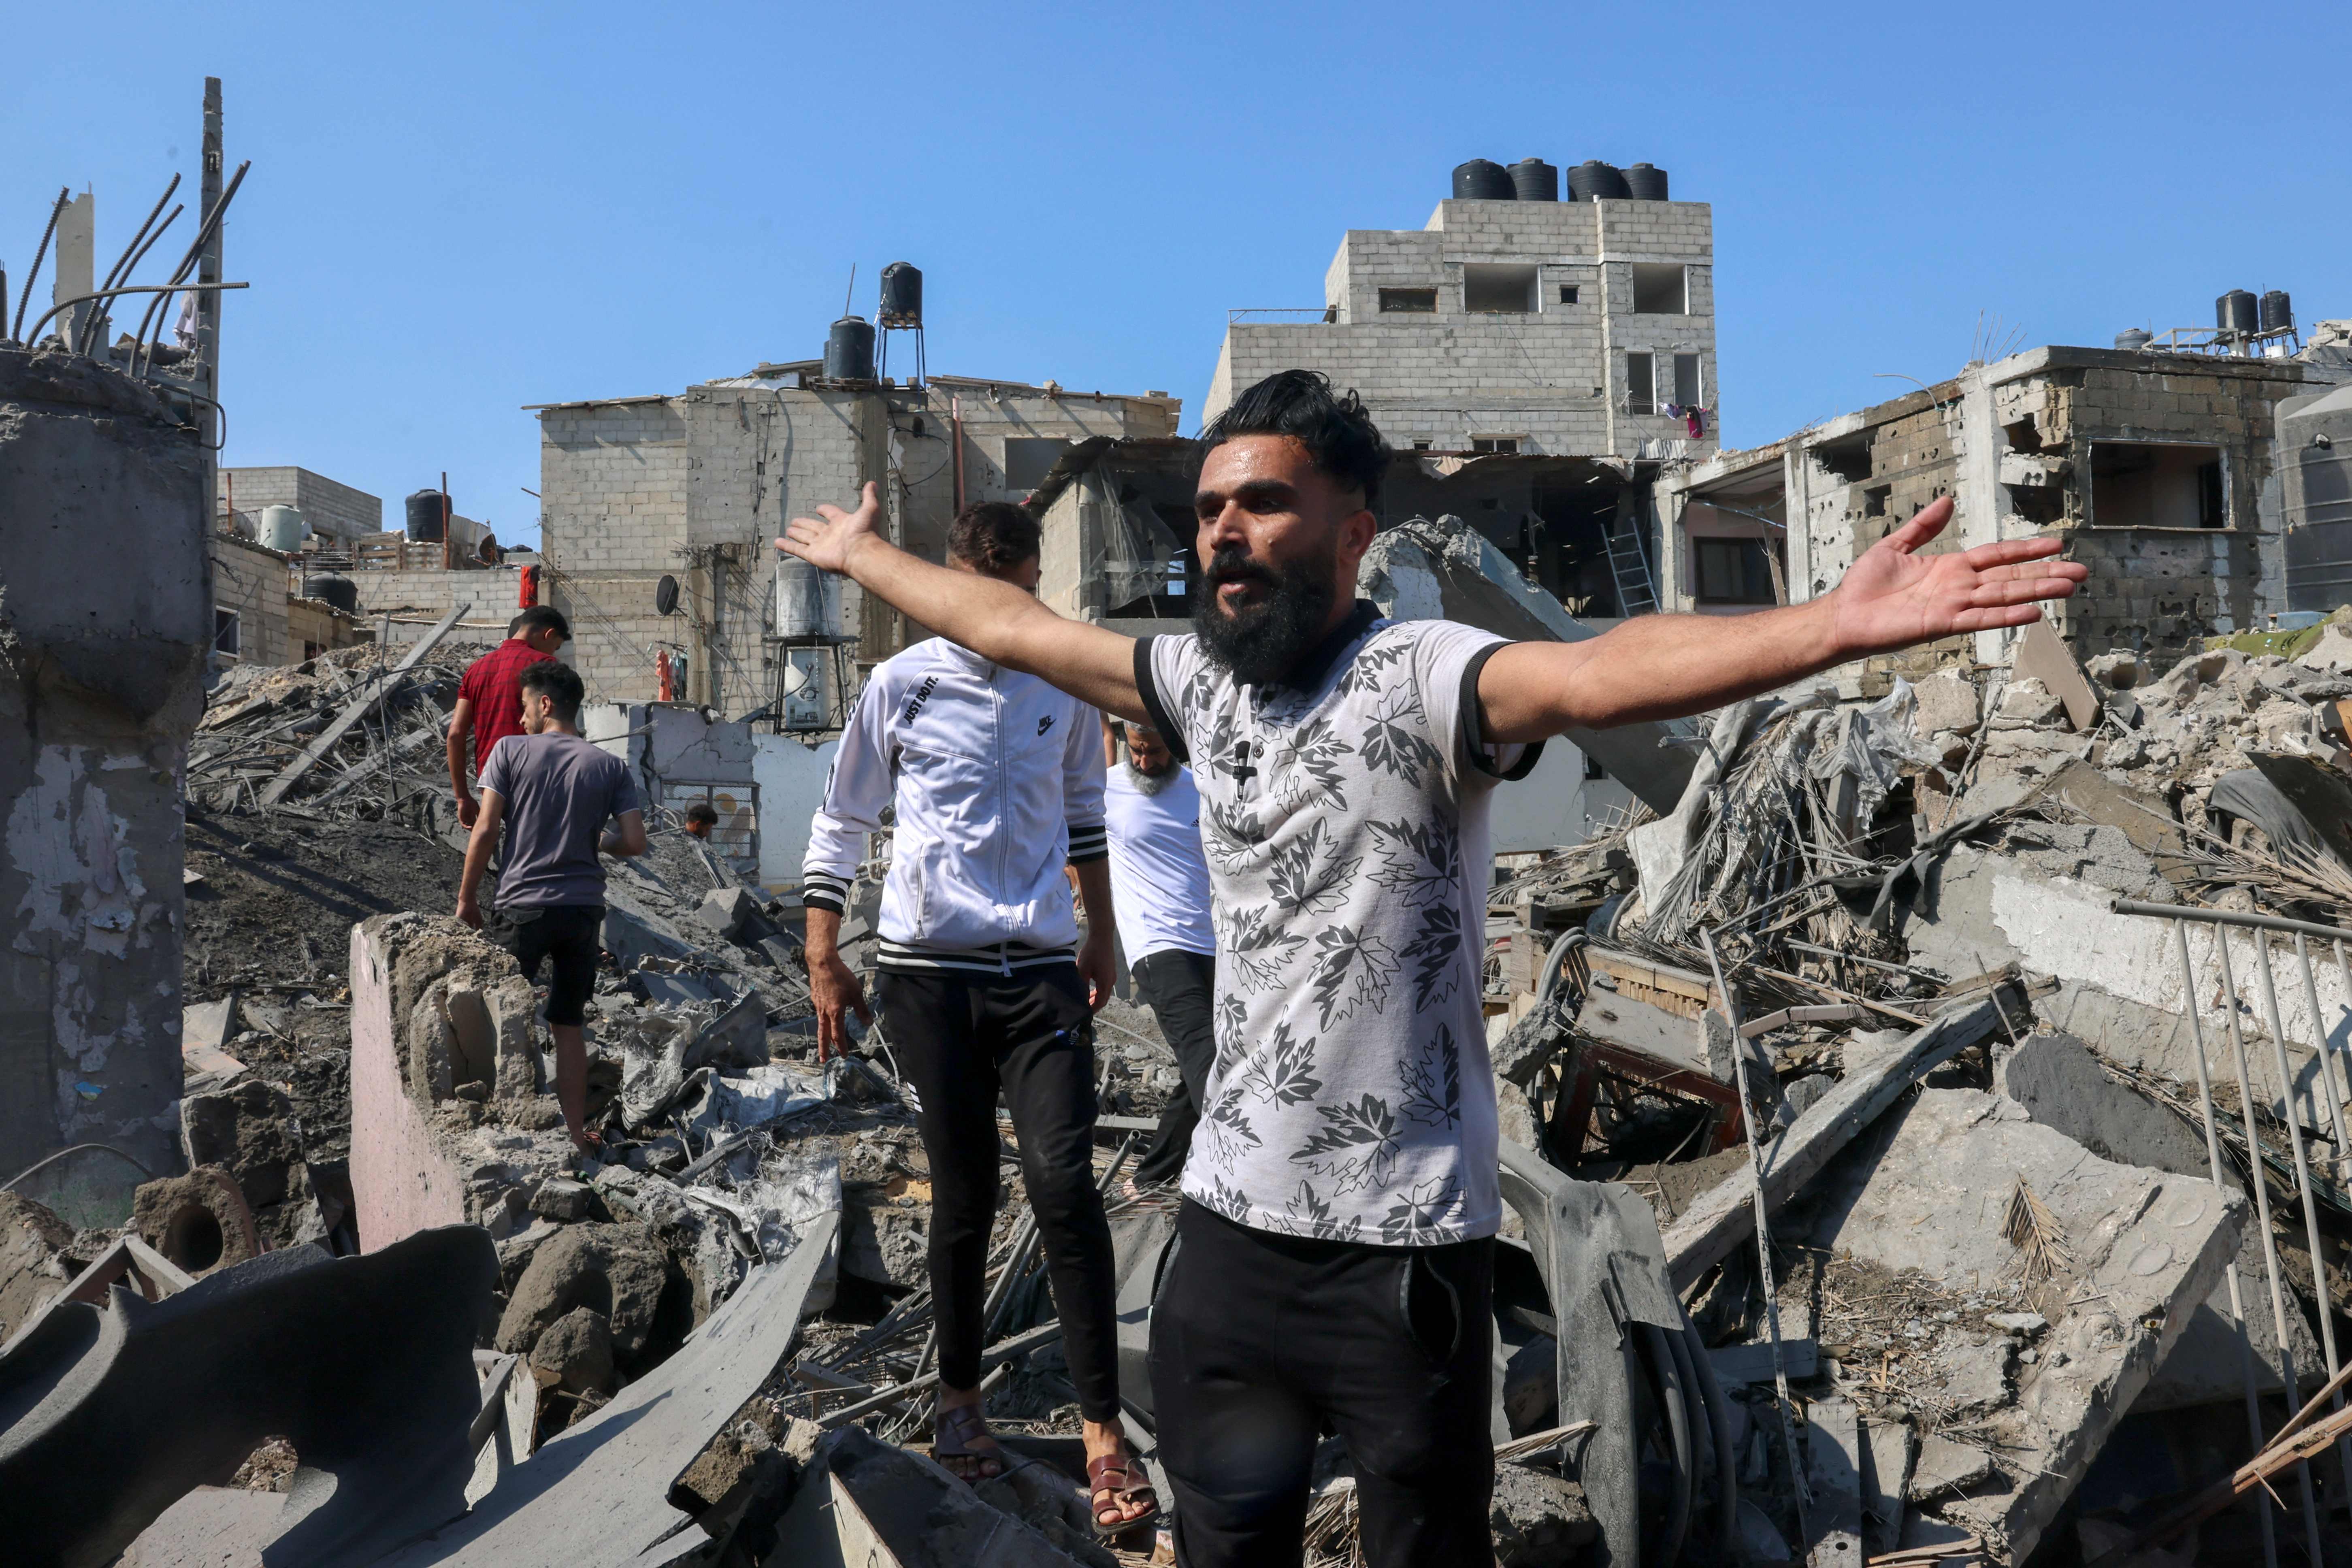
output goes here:
[{"label": "wide grey block building behind the man's outstretched arm at left", "polygon": [[[877,482],[891,538],[941,559],[964,503],[1023,501],[1073,444],[1167,437],[1181,409],[1167,393],[821,369],[762,364],[677,395],[539,407],[548,599],[572,618],[569,658],[590,696],[654,698],[668,663],[680,701],[781,715],[814,682],[821,722],[804,726],[833,729],[856,665],[927,632],[849,583],[837,632],[786,642],[774,538],[795,512]],[[668,616],[663,578],[677,592]]]}]

